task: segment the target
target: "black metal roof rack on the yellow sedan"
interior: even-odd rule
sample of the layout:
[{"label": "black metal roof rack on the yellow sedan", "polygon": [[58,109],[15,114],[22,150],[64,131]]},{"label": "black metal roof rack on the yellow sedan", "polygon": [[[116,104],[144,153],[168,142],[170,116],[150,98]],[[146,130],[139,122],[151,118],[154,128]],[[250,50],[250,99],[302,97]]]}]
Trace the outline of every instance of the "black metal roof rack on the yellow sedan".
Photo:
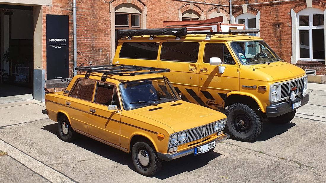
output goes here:
[{"label": "black metal roof rack on the yellow sedan", "polygon": [[[92,72],[103,73],[101,81],[105,81],[109,74],[119,75],[119,76],[134,76],[134,75],[141,75],[141,74],[170,72],[170,69],[162,69],[156,67],[143,67],[137,65],[112,64],[112,65],[76,67],[76,71],[86,71],[85,74],[86,79],[89,78]],[[146,72],[134,72],[134,71],[146,71]]]}]

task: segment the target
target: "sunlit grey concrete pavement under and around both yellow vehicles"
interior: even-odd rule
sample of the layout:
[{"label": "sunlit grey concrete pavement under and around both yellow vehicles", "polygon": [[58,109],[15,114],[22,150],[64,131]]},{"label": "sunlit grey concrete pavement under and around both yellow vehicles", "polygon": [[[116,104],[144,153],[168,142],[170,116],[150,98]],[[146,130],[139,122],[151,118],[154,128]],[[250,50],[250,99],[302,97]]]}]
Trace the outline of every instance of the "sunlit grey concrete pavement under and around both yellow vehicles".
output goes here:
[{"label": "sunlit grey concrete pavement under and around both yellow vehicles", "polygon": [[60,140],[57,124],[41,113],[44,103],[2,103],[0,150],[8,155],[0,157],[0,180],[326,182],[326,85],[309,83],[308,88],[310,101],[291,123],[266,122],[255,142],[226,140],[211,153],[165,162],[154,177],[136,173],[130,154],[88,137],[72,143]]}]

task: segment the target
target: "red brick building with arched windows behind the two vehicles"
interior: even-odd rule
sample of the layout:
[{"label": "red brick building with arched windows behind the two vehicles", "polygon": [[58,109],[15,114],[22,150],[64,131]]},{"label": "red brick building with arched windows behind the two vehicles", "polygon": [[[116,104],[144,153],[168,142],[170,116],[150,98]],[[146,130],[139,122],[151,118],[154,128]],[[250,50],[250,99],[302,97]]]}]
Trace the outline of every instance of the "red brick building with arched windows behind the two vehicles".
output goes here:
[{"label": "red brick building with arched windows behind the two vehicles", "polygon": [[[233,0],[231,21],[244,23],[247,29],[260,29],[259,36],[282,59],[309,69],[310,73],[316,71],[317,76],[310,78],[321,82],[321,75],[326,77],[325,3]],[[68,48],[65,62],[68,75],[57,78],[71,78],[74,65],[73,0],[0,0],[0,49],[4,60],[1,68],[10,75],[10,82],[32,87],[34,98],[41,101],[50,69],[55,72],[52,67],[55,63],[49,60],[47,47],[50,33],[47,28],[52,24],[47,15],[67,17],[68,37],[64,45]],[[218,16],[223,16],[224,23],[229,23],[227,0],[76,0],[77,66],[109,64],[115,54],[116,29],[163,28],[163,21],[204,20]]]}]

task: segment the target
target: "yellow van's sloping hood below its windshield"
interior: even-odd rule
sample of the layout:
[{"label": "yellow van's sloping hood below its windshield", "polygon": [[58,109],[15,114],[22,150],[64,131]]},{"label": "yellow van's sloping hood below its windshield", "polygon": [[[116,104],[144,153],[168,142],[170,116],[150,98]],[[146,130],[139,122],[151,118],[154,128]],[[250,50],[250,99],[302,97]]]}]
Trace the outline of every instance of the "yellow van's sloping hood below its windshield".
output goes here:
[{"label": "yellow van's sloping hood below its windshield", "polygon": [[251,70],[250,72],[252,73],[254,72],[254,74],[245,74],[245,75],[251,75],[255,77],[253,78],[255,80],[262,80],[262,81],[274,80],[274,83],[295,79],[300,76],[304,76],[305,74],[304,70],[301,69],[300,67],[281,61],[271,63],[270,65],[267,64],[255,65],[255,71],[253,71],[253,65],[250,65],[250,70]]}]

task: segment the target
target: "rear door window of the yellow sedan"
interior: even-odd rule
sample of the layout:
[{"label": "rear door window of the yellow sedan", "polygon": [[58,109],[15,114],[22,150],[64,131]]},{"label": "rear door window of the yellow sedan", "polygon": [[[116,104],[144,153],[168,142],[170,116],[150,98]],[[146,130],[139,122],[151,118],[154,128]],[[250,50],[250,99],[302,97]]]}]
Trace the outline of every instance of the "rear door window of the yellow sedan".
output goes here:
[{"label": "rear door window of the yellow sedan", "polygon": [[74,89],[72,90],[70,97],[91,101],[93,97],[95,81],[80,79],[77,82],[78,83],[75,85]]}]

